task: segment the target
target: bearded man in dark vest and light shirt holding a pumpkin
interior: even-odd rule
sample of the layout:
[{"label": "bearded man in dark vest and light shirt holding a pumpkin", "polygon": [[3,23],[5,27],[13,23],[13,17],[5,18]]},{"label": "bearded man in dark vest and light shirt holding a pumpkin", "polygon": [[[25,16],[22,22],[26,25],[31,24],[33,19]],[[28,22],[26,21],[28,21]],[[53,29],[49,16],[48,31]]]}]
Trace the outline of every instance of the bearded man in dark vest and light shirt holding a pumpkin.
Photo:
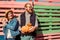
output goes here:
[{"label": "bearded man in dark vest and light shirt holding a pumpkin", "polygon": [[[33,7],[30,3],[26,3],[25,4],[25,12],[23,12],[20,16],[19,16],[19,23],[20,23],[20,32],[21,32],[21,40],[34,40],[34,35],[35,35],[35,30],[38,28],[38,22],[37,22],[37,18],[36,15],[33,11]],[[28,23],[32,24],[31,30],[29,30],[30,33],[24,33],[21,31],[21,28],[25,25],[27,25]]]}]

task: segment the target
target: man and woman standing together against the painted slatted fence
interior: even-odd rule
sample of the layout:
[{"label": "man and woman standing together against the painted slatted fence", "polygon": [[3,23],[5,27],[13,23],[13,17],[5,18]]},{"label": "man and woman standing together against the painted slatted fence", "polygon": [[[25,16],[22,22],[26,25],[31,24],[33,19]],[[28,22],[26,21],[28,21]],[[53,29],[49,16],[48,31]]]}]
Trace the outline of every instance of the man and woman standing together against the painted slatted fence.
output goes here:
[{"label": "man and woman standing together against the painted slatted fence", "polygon": [[[26,3],[24,7],[25,12],[23,12],[18,19],[14,17],[12,10],[6,13],[6,20],[3,22],[4,40],[17,40],[18,38],[21,40],[34,40],[35,31],[38,28],[37,18],[30,3]],[[21,28],[28,23],[32,24],[29,33],[21,31]],[[18,37],[18,35],[20,36]]]}]

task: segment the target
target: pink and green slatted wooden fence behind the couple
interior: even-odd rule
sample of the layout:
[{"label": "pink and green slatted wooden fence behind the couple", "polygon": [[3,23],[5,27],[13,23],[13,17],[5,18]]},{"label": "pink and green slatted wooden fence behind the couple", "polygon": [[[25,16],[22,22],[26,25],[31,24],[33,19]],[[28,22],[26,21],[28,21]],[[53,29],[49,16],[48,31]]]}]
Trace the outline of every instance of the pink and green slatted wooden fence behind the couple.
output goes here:
[{"label": "pink and green slatted wooden fence behind the couple", "polygon": [[[25,3],[27,2],[0,1],[0,35],[3,35],[2,19],[5,12],[13,10],[14,15],[18,17],[24,12]],[[60,40],[60,4],[34,2],[34,10],[39,20],[35,40]]]}]

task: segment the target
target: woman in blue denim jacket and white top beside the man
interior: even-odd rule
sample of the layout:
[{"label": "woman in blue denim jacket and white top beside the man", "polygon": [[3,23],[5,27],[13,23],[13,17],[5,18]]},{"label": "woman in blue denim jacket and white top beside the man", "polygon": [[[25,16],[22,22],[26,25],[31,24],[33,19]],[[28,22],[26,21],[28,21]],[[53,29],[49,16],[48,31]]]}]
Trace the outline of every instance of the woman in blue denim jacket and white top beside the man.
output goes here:
[{"label": "woman in blue denim jacket and white top beside the man", "polygon": [[4,40],[15,40],[15,37],[19,34],[19,22],[14,17],[12,10],[6,13],[3,24]]}]

